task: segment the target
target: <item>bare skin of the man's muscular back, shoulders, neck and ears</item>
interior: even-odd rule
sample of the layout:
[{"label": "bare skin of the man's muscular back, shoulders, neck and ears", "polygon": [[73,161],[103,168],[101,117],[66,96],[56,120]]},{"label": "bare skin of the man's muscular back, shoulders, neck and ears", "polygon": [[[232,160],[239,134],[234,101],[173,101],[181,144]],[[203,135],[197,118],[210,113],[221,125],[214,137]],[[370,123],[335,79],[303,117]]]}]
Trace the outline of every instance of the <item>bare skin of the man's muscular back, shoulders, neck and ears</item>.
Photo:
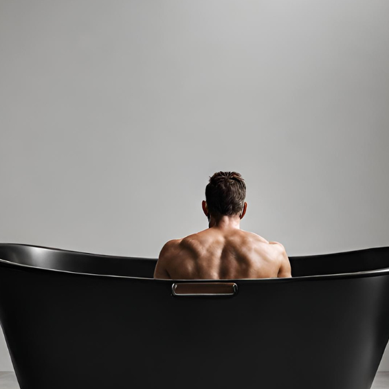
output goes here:
[{"label": "bare skin of the man's muscular back, shoulders, neck and ears", "polygon": [[[209,215],[205,201],[205,216]],[[209,227],[181,239],[168,241],[159,254],[154,278],[221,280],[237,278],[287,278],[291,265],[285,247],[241,230],[241,214],[210,215]]]}]

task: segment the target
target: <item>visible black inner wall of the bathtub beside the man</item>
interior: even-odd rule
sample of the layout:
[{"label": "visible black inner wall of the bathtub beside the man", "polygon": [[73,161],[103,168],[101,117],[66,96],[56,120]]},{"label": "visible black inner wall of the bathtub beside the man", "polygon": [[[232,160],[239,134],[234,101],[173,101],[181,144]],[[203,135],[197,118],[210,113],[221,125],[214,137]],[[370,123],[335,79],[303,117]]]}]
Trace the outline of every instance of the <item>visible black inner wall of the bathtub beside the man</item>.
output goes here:
[{"label": "visible black inner wall of the bathtub beside the man", "polygon": [[[10,243],[0,243],[0,259],[44,269],[142,278],[153,278],[157,263],[157,258],[107,256]],[[290,256],[289,260],[293,277],[355,273],[389,268],[389,247]]]}]

